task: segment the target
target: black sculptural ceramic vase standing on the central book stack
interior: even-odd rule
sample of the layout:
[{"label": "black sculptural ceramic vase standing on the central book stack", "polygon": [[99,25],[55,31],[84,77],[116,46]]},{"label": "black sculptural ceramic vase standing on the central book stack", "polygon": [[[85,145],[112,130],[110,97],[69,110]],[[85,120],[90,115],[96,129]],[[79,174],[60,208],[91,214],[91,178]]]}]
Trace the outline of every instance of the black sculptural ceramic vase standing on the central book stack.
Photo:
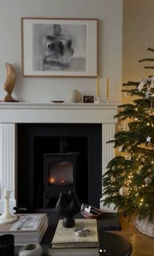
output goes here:
[{"label": "black sculptural ceramic vase standing on the central book stack", "polygon": [[55,206],[55,213],[63,216],[63,227],[72,228],[75,225],[74,215],[81,210],[81,204],[75,191],[61,192]]}]

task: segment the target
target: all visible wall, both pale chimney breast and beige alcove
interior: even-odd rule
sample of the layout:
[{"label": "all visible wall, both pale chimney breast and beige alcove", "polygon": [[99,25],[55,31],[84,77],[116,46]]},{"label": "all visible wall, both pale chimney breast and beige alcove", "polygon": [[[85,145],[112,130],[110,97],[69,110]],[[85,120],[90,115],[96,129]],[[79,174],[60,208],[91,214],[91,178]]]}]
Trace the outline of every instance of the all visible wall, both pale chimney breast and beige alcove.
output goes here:
[{"label": "all visible wall, both pale chimney breast and beige alcove", "polygon": [[[122,3],[123,2],[123,3]],[[123,13],[122,13],[123,8]],[[153,0],[1,0],[0,8],[0,100],[5,95],[5,62],[16,69],[13,96],[21,101],[66,100],[70,90],[95,94],[95,79],[37,79],[21,77],[20,18],[48,16],[61,18],[99,18],[100,98],[104,101],[106,77],[110,77],[110,100],[121,101],[123,82],[139,81],[153,75],[144,69],[141,58],[153,57]],[[123,16],[123,52],[122,52]],[[121,65],[121,52],[123,53]],[[122,73],[121,73],[122,69]]]}]

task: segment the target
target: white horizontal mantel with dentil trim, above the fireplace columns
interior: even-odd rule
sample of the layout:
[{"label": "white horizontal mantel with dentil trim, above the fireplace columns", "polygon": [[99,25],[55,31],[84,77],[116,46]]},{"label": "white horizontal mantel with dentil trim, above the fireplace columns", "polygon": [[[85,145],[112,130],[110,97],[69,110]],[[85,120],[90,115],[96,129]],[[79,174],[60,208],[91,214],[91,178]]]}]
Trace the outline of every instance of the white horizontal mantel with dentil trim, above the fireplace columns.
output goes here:
[{"label": "white horizontal mantel with dentil trim, above the fireplace columns", "polygon": [[117,104],[0,103],[0,122],[115,123]]}]

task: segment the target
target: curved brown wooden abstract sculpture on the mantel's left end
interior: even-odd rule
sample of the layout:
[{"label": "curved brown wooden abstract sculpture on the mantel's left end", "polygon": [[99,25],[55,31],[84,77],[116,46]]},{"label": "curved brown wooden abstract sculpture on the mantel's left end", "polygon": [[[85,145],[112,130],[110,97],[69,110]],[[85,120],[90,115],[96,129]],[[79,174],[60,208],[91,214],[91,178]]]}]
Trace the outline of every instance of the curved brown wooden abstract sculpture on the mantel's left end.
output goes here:
[{"label": "curved brown wooden abstract sculpture on the mantel's left end", "polygon": [[16,100],[14,100],[14,98],[12,98],[11,96],[12,91],[14,90],[15,82],[16,82],[16,72],[14,70],[14,67],[12,67],[12,65],[10,65],[9,63],[5,63],[5,65],[7,67],[7,78],[3,88],[7,92],[7,96],[5,96],[5,98],[3,98],[2,101],[16,102]]}]

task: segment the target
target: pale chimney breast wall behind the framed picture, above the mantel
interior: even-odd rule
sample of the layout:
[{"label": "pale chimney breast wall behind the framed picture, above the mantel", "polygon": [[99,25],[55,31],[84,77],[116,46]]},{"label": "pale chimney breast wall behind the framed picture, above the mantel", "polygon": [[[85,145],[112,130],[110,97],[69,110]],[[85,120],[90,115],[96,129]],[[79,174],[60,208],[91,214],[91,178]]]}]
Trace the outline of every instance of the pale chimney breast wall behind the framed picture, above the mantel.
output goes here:
[{"label": "pale chimney breast wall behind the framed picture, above the mantel", "polygon": [[0,1],[0,100],[5,95],[5,62],[16,69],[12,96],[19,101],[67,100],[70,90],[95,95],[96,79],[22,78],[21,17],[98,18],[100,100],[105,101],[106,77],[110,101],[121,102],[123,0],[1,0]]}]

